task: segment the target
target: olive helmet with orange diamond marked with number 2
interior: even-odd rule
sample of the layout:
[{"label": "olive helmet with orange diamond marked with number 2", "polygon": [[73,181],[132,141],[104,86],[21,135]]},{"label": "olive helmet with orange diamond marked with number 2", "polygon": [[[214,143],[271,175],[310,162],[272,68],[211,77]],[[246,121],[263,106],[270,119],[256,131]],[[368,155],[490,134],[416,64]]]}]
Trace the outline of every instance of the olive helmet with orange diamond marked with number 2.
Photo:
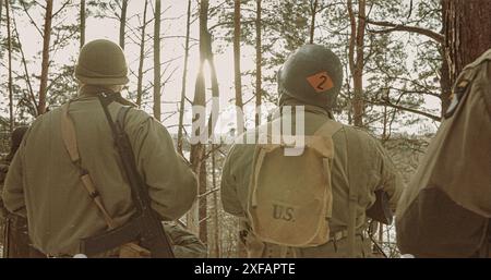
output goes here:
[{"label": "olive helmet with orange diamond marked with number 2", "polygon": [[320,45],[304,45],[278,71],[279,104],[288,97],[331,111],[343,83],[339,58]]}]

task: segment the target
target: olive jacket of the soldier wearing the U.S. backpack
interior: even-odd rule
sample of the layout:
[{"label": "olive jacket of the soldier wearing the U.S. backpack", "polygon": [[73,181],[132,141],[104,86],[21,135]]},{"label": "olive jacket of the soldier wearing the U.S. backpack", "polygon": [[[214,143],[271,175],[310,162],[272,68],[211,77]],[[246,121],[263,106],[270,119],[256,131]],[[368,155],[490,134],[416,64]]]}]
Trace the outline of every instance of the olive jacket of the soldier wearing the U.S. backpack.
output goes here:
[{"label": "olive jacket of the soldier wearing the U.S. backpack", "polygon": [[[280,117],[278,117],[280,118]],[[294,118],[295,119],[295,118]],[[325,122],[334,122],[328,113],[319,107],[306,106],[306,135],[312,135]],[[267,125],[267,124],[265,124]],[[259,129],[260,130],[260,129]],[[253,132],[255,133],[255,132]],[[359,174],[348,174],[348,163],[350,160],[358,160],[358,156],[350,151],[346,137],[361,138],[360,150],[367,154],[367,160],[359,161]],[[402,181],[391,159],[384,148],[376,139],[368,133],[344,125],[343,129],[333,135],[335,155],[332,170],[333,186],[333,214],[330,228],[333,232],[332,242],[310,248],[295,249],[290,254],[297,257],[347,257],[348,248],[346,244],[346,229],[348,224],[348,185],[355,180],[363,180],[357,183],[363,185],[358,190],[359,200],[357,207],[357,256],[370,256],[370,242],[362,234],[366,227],[366,210],[375,203],[374,192],[384,190],[391,197],[391,207],[395,208],[402,192]],[[233,145],[224,165],[221,175],[221,202],[225,211],[246,218],[247,197],[252,172],[252,161],[255,145]],[[368,174],[368,175],[367,175]],[[301,175],[301,170],[299,170]],[[367,181],[364,181],[367,180]],[[247,224],[247,219],[246,219]],[[247,227],[247,226],[246,226]],[[247,229],[246,229],[247,230]],[[246,239],[249,246],[262,246],[261,241],[255,240],[250,230]],[[273,244],[265,244],[263,255],[275,255],[278,251]]]}]

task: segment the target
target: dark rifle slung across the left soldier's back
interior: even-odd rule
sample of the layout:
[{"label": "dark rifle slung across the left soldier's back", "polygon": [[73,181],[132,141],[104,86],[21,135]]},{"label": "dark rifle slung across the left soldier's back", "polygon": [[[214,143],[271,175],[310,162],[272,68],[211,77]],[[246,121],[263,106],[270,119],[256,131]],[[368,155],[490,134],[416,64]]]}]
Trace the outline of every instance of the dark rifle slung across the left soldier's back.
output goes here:
[{"label": "dark rifle slung across the left soldier's back", "polygon": [[101,235],[83,239],[81,252],[94,256],[127,243],[139,241],[139,245],[151,252],[152,257],[172,258],[173,253],[169,239],[163,228],[157,214],[151,208],[148,190],[136,170],[133,149],[124,132],[124,118],[130,107],[123,107],[118,112],[117,122],[112,121],[108,106],[119,94],[101,94],[99,101],[103,106],[109,126],[112,131],[115,145],[121,158],[123,173],[131,186],[131,194],[136,209],[135,216],[125,224],[112,229]]}]

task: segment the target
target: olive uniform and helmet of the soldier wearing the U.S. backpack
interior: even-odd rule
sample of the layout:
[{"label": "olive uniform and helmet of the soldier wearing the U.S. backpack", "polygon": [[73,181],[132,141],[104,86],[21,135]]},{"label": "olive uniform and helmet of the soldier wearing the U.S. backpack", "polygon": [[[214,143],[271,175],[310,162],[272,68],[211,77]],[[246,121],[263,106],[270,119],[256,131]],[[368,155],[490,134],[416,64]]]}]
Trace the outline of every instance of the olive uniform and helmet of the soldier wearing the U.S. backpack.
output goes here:
[{"label": "olive uniform and helmet of the soldier wearing the U.S. backpack", "polygon": [[[320,61],[321,65],[316,65],[316,60]],[[298,69],[299,64],[303,63],[307,65],[301,65],[301,69]],[[255,131],[239,136],[239,139],[247,143],[247,139],[258,138],[261,131],[268,130],[265,126],[271,126],[274,122],[282,122],[283,118],[289,118],[294,122],[292,126],[304,125],[306,136],[313,135],[326,123],[334,123],[330,109],[334,106],[334,97],[340,88],[343,80],[342,74],[339,74],[340,69],[337,57],[323,47],[307,45],[300,48],[287,60],[278,77],[279,113],[276,113],[271,122]],[[326,78],[333,80],[332,86],[327,90],[320,90],[321,93],[319,93],[319,88],[316,88],[314,93],[309,94],[308,90],[312,92],[312,85],[308,84],[302,77],[315,73],[321,73],[321,76],[325,75]],[[298,77],[297,81],[295,81],[296,77]],[[304,123],[296,123],[295,114],[285,115],[282,113],[285,106],[304,106]],[[331,165],[333,193],[333,207],[328,220],[331,236],[327,243],[313,247],[285,248],[284,246],[262,242],[255,236],[250,227],[251,221],[247,209],[256,145],[235,144],[231,147],[223,168],[221,200],[225,211],[241,218],[241,236],[249,256],[350,257],[347,243],[347,229],[350,222],[348,214],[350,186],[356,186],[356,193],[358,194],[355,215],[355,256],[370,256],[370,241],[362,233],[367,226],[366,210],[375,203],[375,191],[379,190],[388,194],[391,207],[395,208],[403,188],[402,179],[381,144],[362,130],[340,125],[340,129],[332,135],[332,139],[334,158]],[[352,143],[357,143],[357,147]],[[350,165],[354,168],[350,168]],[[349,170],[354,170],[355,173],[350,173]],[[302,170],[298,170],[298,176],[302,176]],[[278,187],[282,186],[278,185]]]}]

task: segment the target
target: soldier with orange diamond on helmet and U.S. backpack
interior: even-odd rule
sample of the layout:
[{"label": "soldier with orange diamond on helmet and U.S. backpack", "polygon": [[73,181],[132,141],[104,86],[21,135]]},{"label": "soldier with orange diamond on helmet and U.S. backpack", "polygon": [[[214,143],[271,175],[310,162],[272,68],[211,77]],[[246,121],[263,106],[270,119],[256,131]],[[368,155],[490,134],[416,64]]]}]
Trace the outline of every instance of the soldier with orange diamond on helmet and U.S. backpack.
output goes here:
[{"label": "soldier with orange diamond on helmet and U.S. backpack", "polygon": [[[241,218],[249,257],[370,256],[366,210],[378,191],[395,208],[402,181],[375,138],[334,120],[342,81],[343,66],[331,50],[299,48],[278,72],[278,113],[231,147],[221,199],[227,212]],[[274,138],[271,131],[288,118],[292,126],[304,126],[297,138],[304,141],[301,156],[288,156],[286,142],[261,141]],[[250,138],[259,144],[240,144]]]}]

